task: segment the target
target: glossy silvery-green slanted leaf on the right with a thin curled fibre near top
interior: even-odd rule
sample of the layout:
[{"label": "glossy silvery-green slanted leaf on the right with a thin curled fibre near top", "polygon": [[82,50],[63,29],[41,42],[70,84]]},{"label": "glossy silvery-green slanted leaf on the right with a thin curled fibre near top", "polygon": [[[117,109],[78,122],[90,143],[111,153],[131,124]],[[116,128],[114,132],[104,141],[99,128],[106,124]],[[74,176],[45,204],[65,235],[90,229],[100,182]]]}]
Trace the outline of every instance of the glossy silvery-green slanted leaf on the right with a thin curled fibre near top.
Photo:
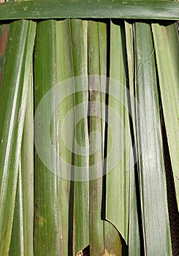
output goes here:
[{"label": "glossy silvery-green slanted leaf on the right with a thin curled fibre near top", "polygon": [[156,63],[149,24],[134,24],[134,45],[136,141],[145,255],[172,255]]}]

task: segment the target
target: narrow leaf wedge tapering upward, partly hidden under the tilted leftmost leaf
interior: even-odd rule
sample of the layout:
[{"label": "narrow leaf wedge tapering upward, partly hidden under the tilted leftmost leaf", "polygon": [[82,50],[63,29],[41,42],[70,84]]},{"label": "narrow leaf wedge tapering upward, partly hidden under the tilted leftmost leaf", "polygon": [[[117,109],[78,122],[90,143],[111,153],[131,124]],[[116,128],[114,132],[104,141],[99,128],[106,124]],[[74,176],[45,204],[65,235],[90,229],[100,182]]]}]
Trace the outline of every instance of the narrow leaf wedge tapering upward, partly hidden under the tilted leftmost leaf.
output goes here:
[{"label": "narrow leaf wedge tapering upward, partly hidden under the tilted leftmost leaf", "polygon": [[[31,65],[32,71],[32,65]],[[19,162],[18,190],[9,255],[33,256],[34,234],[34,108],[32,72],[29,74],[28,99]]]}]

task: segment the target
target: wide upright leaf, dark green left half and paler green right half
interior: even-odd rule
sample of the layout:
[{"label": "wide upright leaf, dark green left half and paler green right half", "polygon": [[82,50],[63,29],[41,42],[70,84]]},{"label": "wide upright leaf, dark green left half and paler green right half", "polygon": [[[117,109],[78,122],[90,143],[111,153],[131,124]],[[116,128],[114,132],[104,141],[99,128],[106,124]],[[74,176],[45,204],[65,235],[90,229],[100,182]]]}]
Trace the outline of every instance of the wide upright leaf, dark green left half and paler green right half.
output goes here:
[{"label": "wide upright leaf, dark green left half and paler green right half", "polygon": [[[48,90],[73,76],[68,20],[59,22],[47,20],[38,24],[34,56],[35,108],[37,108]],[[57,103],[55,94],[70,94],[71,88],[66,91],[68,88],[64,83],[60,87],[61,91],[57,88],[50,98],[50,106],[53,107],[53,104]],[[66,148],[61,130],[66,113],[74,106],[74,97],[73,95],[66,97],[54,113],[50,106],[49,108],[47,106],[47,111],[53,114],[49,131],[51,145],[61,159],[72,164],[73,116],[66,128],[71,149]],[[42,118],[47,118],[47,113],[43,110],[39,114],[42,114]],[[42,126],[42,123],[36,124],[39,135]],[[36,140],[40,138],[37,136]],[[41,140],[40,146],[47,148],[50,157],[47,141]],[[37,152],[35,155],[34,253],[36,255],[68,255],[69,230],[73,228],[69,227],[69,218],[72,218],[72,212],[69,212],[70,181],[59,176],[59,172],[67,170],[61,170],[62,165],[61,162],[56,162],[58,157],[56,154],[53,154],[55,167],[53,172],[47,169]]]}]

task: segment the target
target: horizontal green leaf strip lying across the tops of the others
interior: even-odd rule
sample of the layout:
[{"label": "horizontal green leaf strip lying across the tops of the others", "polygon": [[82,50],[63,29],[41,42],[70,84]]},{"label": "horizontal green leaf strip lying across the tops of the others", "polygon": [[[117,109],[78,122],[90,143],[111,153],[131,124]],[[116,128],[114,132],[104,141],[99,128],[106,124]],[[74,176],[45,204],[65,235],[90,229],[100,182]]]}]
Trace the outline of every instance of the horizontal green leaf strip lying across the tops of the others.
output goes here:
[{"label": "horizontal green leaf strip lying across the tops of the others", "polygon": [[178,1],[22,1],[1,4],[0,19],[129,18],[178,20]]}]

